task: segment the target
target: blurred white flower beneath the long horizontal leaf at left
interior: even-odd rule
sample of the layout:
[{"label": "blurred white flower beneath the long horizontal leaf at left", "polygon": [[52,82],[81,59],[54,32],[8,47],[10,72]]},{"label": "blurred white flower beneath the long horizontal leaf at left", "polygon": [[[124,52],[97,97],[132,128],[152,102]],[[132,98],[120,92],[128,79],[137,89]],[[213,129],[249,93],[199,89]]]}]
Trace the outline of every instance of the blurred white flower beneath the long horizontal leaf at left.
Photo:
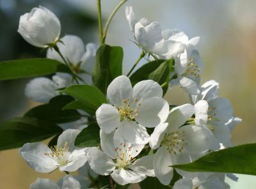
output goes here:
[{"label": "blurred white flower beneath the long horizontal leaf at left", "polygon": [[35,102],[49,102],[60,93],[58,89],[68,87],[72,84],[72,77],[67,73],[56,73],[52,79],[38,77],[28,82],[25,94]]}]

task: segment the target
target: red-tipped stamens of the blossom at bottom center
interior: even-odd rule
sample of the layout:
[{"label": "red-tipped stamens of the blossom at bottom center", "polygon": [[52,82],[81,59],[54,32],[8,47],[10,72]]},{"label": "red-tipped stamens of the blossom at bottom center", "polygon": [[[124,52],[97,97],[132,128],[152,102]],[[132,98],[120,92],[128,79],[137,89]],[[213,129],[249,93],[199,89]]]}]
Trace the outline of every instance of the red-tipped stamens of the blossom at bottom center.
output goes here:
[{"label": "red-tipped stamens of the blossom at bottom center", "polygon": [[132,158],[131,150],[132,146],[126,146],[124,143],[121,143],[120,147],[115,147],[116,167],[118,169],[125,169],[134,162],[135,158]]}]

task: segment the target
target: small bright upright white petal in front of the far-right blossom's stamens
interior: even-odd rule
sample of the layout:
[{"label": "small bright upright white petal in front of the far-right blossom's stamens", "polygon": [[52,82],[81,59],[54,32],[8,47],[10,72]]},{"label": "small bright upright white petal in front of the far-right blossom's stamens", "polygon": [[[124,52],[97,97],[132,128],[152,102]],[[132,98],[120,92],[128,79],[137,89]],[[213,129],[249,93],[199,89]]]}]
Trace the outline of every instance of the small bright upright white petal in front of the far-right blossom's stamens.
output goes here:
[{"label": "small bright upright white petal in front of the far-right blossom's stamens", "polygon": [[205,100],[199,100],[195,104],[195,124],[200,126],[200,125],[205,125],[208,120],[208,103]]}]

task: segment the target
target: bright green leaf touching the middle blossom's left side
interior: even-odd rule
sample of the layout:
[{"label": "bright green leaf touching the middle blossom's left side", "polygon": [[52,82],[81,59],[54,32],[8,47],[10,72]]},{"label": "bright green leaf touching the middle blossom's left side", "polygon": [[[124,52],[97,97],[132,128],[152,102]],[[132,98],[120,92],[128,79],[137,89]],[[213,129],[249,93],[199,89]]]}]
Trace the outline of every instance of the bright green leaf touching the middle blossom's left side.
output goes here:
[{"label": "bright green leaf touching the middle blossom's left side", "polygon": [[[70,96],[76,98],[81,105],[79,105],[79,109],[83,105],[83,110],[88,112],[89,114],[95,114],[95,111],[102,105],[102,103],[106,103],[106,97],[101,91],[94,86],[89,85],[75,85],[67,87],[63,90],[63,93],[67,93]],[[77,102],[75,105],[77,105]],[[73,107],[74,107],[73,103]],[[71,106],[71,105],[68,105]],[[67,109],[67,107],[65,107]]]}]

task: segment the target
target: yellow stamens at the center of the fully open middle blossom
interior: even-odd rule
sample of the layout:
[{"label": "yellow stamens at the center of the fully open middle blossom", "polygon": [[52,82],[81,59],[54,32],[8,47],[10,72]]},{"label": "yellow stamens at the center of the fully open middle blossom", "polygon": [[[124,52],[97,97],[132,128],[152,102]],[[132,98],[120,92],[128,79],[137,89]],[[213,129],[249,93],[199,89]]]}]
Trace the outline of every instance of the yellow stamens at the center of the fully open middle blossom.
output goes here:
[{"label": "yellow stamens at the center of the fully open middle blossom", "polygon": [[[123,105],[118,107],[118,112],[120,113],[122,120],[132,121],[138,116],[138,109],[134,108],[137,103],[138,98],[134,98],[131,103],[129,102],[129,99],[123,100]],[[141,103],[139,102],[138,105],[141,105]]]}]

